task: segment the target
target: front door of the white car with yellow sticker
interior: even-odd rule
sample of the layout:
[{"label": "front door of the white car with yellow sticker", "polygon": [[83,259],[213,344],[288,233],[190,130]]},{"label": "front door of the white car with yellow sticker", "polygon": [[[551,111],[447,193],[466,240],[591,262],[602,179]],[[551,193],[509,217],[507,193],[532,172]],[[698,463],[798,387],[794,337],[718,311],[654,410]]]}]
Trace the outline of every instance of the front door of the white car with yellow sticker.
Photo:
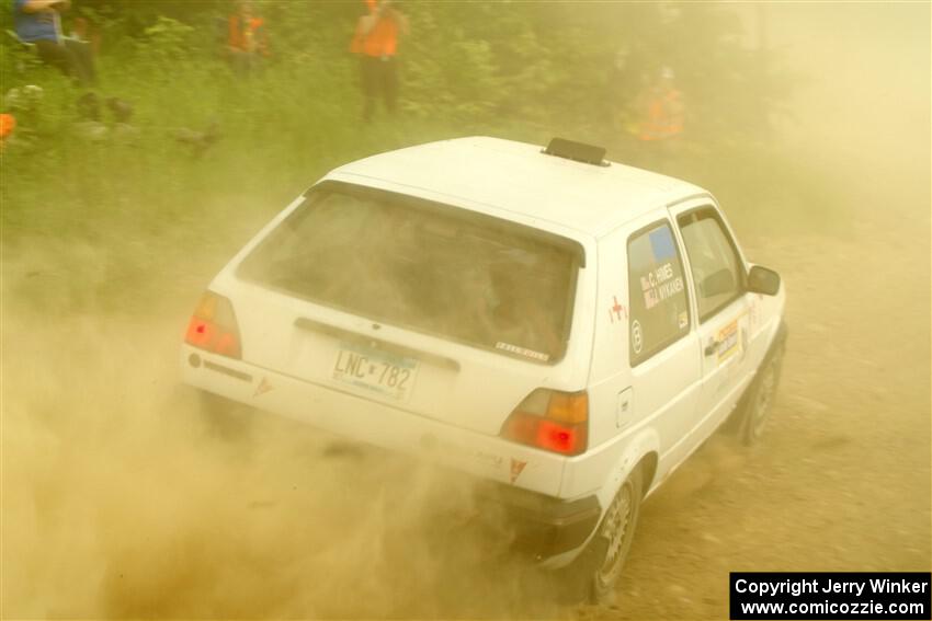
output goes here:
[{"label": "front door of the white car with yellow sticker", "polygon": [[725,421],[749,369],[747,266],[718,208],[708,199],[671,209],[685,249],[702,352],[700,436]]}]

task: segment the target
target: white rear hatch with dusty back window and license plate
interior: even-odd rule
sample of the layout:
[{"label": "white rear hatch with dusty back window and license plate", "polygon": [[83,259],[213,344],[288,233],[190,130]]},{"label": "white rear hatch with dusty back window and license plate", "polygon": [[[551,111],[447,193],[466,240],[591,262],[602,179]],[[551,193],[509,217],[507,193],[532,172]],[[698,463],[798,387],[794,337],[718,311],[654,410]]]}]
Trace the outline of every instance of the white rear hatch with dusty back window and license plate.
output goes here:
[{"label": "white rear hatch with dusty back window and license plate", "polygon": [[230,297],[243,360],[497,435],[569,367],[582,266],[568,238],[327,181],[242,258]]}]

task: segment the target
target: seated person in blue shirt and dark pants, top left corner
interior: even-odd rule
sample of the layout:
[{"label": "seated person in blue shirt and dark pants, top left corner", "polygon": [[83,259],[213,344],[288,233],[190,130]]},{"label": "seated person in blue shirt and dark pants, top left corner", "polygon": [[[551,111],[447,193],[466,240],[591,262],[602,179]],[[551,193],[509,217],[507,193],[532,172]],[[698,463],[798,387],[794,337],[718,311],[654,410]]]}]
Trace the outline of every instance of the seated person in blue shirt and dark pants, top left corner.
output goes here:
[{"label": "seated person in blue shirt and dark pants, top left corner", "polygon": [[90,87],[96,81],[90,46],[61,34],[60,12],[70,5],[71,0],[13,0],[16,36],[34,44],[45,64]]}]

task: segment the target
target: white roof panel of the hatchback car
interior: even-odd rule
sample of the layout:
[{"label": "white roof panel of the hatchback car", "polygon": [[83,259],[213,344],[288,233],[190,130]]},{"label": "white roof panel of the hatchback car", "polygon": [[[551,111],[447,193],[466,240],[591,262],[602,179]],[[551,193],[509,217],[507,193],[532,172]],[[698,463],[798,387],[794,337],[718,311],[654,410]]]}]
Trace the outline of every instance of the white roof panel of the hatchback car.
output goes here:
[{"label": "white roof panel of the hatchback car", "polygon": [[[408,147],[331,173],[420,188],[601,237],[630,219],[706,191],[678,179],[610,162],[547,156],[539,146],[489,137]],[[365,184],[365,180],[357,180]]]}]

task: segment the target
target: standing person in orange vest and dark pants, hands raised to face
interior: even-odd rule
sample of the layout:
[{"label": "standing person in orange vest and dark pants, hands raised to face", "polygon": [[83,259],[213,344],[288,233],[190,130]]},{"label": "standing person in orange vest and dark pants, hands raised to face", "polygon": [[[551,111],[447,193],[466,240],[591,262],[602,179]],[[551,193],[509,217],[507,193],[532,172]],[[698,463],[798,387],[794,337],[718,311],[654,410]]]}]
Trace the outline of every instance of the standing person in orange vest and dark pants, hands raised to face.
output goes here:
[{"label": "standing person in orange vest and dark pants, hands raised to face", "polygon": [[408,34],[408,19],[391,0],[365,0],[350,50],[360,55],[363,119],[372,119],[380,95],[394,114],[398,100],[398,38]]}]

